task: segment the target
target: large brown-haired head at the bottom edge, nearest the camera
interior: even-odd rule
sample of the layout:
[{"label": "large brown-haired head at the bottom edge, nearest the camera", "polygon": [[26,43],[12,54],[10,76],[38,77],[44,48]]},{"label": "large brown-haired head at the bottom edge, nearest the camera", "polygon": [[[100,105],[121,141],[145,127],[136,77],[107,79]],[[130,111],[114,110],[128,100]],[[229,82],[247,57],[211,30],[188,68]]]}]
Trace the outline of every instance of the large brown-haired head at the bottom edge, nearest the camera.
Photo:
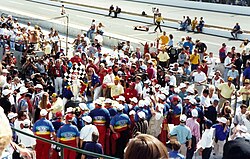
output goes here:
[{"label": "large brown-haired head at the bottom edge, nearest the camera", "polygon": [[131,139],[127,145],[125,159],[159,159],[168,158],[166,147],[157,138],[140,134]]}]

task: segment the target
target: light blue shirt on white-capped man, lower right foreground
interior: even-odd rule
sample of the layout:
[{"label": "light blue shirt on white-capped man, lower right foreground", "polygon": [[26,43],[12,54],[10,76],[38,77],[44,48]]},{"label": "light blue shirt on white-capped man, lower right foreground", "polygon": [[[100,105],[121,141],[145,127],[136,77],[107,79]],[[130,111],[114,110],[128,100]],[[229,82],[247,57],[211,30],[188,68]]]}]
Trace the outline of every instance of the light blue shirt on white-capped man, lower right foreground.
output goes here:
[{"label": "light blue shirt on white-capped man, lower right foreground", "polygon": [[178,125],[171,132],[171,136],[177,135],[177,140],[180,144],[185,144],[192,138],[191,130],[186,125]]}]

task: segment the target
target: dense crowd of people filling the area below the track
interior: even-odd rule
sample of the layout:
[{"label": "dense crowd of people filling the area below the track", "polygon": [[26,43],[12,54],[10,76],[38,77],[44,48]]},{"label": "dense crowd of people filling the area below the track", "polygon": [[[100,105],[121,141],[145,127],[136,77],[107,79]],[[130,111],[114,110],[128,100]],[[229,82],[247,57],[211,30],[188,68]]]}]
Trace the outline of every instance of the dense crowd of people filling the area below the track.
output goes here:
[{"label": "dense crowd of people filling the area below the track", "polygon": [[[41,28],[30,23],[18,26],[11,16],[1,18],[1,46],[12,46],[12,36],[22,36],[24,41],[21,50],[16,49],[16,40],[11,47],[22,52],[20,69],[7,50],[1,63],[0,106],[11,127],[125,159],[192,159],[195,153],[203,159],[211,154],[244,158],[248,153],[230,153],[237,146],[231,145],[232,141],[247,143],[245,138],[250,139],[248,40],[241,50],[228,49],[223,43],[218,48],[223,69],[217,70],[214,53],[192,37],[175,44],[173,35],[163,32],[157,47],[150,44],[142,51],[126,41],[104,52],[101,38],[96,38],[102,36],[100,31],[92,37],[95,31],[91,29],[96,29],[93,20],[90,31],[72,42],[72,58],[58,49],[60,38],[54,29],[43,36],[50,40],[44,38],[45,54],[38,57],[35,50],[42,46]],[[37,35],[35,42],[32,33]],[[173,46],[179,51],[174,62],[169,52]],[[76,69],[69,82],[65,73],[79,63],[85,68],[83,80]],[[236,113],[233,96],[242,97]],[[60,156],[60,147],[15,131],[12,142],[34,150],[37,159]],[[93,157],[64,149],[64,158]]]}]

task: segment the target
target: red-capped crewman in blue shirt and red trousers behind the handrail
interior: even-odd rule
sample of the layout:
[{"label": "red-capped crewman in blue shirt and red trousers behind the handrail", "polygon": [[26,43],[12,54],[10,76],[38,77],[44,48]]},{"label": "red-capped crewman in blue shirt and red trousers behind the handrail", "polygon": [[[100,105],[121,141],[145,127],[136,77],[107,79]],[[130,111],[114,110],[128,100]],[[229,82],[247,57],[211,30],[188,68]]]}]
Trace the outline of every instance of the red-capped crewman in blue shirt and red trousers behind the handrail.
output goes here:
[{"label": "red-capped crewman in blue shirt and red trousers behind the handrail", "polygon": [[[67,114],[65,116],[66,124],[63,125],[58,131],[57,131],[57,142],[60,142],[62,144],[72,146],[72,147],[78,147],[79,143],[79,131],[75,125],[72,125],[72,114]],[[76,158],[76,151],[64,149],[64,159],[75,159]]]}]

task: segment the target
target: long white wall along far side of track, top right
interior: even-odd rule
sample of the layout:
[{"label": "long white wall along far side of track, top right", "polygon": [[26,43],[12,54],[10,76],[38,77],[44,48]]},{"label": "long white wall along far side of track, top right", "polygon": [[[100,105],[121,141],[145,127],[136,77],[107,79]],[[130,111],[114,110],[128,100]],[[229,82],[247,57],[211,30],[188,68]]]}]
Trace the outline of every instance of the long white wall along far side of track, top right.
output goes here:
[{"label": "long white wall along far side of track, top right", "polygon": [[181,8],[191,8],[197,10],[206,10],[213,12],[229,13],[229,14],[238,14],[238,15],[250,15],[250,7],[246,6],[237,6],[237,5],[226,5],[226,4],[217,4],[217,3],[207,3],[207,2],[194,2],[186,0],[127,0],[141,3],[149,3],[155,5],[165,5],[165,6],[174,6]]}]

